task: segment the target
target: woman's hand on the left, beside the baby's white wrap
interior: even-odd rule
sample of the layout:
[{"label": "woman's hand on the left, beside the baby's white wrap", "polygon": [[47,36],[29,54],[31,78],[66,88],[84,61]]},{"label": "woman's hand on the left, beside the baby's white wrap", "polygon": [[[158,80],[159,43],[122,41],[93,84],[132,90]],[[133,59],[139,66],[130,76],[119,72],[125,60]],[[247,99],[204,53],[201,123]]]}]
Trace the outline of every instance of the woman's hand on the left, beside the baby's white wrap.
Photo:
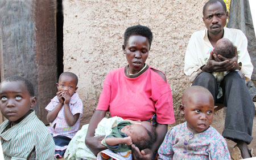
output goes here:
[{"label": "woman's hand on the left, beside the baby's white wrap", "polygon": [[101,141],[105,138],[105,136],[98,136],[98,137],[86,137],[85,144],[88,148],[96,155],[102,150],[107,149],[106,146],[101,144]]}]

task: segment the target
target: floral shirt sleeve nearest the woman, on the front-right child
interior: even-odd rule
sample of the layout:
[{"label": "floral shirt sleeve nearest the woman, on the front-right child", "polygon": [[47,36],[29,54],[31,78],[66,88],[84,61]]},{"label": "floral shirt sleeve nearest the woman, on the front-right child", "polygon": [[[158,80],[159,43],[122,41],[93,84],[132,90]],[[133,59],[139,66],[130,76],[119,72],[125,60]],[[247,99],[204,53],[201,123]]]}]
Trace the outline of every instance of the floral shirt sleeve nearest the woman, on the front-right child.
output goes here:
[{"label": "floral shirt sleeve nearest the woman, on the front-right child", "polygon": [[167,132],[163,143],[158,149],[158,159],[172,159],[172,157],[174,157],[174,150],[172,149],[172,140],[174,139],[174,135],[172,133],[172,129],[173,128]]}]

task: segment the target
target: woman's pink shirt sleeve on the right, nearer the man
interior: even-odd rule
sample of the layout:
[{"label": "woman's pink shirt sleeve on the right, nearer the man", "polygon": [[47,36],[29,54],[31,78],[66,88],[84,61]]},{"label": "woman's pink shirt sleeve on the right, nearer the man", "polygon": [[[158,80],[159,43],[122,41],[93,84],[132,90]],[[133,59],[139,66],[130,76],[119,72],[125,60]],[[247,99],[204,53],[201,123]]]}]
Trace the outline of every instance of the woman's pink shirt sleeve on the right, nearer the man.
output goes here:
[{"label": "woman's pink shirt sleeve on the right, nearer the man", "polygon": [[[167,85],[169,85],[167,83]],[[172,104],[172,92],[170,91],[162,94],[155,103],[156,122],[160,124],[175,123],[174,107]]]}]

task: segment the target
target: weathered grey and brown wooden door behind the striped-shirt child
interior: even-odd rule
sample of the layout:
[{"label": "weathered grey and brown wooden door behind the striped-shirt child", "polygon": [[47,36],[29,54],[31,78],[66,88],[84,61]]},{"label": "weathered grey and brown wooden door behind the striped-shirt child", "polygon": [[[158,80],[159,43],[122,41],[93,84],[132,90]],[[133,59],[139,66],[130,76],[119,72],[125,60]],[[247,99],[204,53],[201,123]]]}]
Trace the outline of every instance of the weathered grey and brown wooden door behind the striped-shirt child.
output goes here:
[{"label": "weathered grey and brown wooden door behind the striped-shirt child", "polygon": [[44,109],[56,94],[56,1],[0,1],[1,81],[23,76],[32,82],[44,123]]}]

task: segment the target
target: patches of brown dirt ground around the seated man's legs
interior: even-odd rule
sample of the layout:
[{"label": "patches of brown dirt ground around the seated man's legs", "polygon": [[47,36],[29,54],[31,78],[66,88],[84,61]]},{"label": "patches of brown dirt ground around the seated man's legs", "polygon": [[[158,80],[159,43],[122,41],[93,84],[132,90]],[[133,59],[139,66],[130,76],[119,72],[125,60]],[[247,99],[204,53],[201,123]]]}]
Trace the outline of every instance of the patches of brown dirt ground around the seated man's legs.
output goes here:
[{"label": "patches of brown dirt ground around the seated man's legs", "polygon": [[[224,129],[224,123],[225,123],[225,109],[221,109],[217,111],[217,113],[214,114],[212,127],[217,129],[219,133],[222,133]],[[256,155],[256,115],[254,115],[253,120],[253,141],[251,141],[251,144],[249,145],[249,148],[253,148],[253,154]],[[236,145],[235,142],[226,139],[226,142],[228,144],[228,149],[230,154],[232,153],[232,149],[234,145]]]}]

